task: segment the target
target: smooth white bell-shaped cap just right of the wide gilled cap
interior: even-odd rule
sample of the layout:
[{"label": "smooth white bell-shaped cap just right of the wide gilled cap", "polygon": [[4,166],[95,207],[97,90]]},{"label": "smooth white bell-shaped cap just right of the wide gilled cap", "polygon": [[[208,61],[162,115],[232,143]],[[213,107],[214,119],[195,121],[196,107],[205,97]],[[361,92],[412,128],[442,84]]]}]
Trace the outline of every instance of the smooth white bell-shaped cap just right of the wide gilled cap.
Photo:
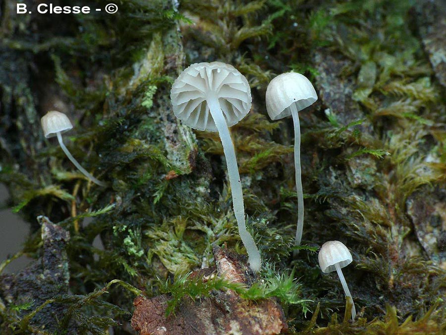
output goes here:
[{"label": "smooth white bell-shaped cap just right of the wide gilled cap", "polygon": [[318,95],[306,76],[296,72],[279,74],[270,81],[266,92],[266,107],[272,120],[291,115],[289,106],[300,111],[318,100]]}]

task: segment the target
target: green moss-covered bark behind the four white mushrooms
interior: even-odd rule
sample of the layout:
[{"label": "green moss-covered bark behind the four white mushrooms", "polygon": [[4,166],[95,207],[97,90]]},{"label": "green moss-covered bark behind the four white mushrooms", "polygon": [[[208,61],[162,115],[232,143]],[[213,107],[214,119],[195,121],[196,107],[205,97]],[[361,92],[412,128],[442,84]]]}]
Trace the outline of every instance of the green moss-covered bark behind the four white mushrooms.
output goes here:
[{"label": "green moss-covered bark behind the four white mushrooms", "polygon": [[[5,334],[38,334],[43,324],[42,334],[134,334],[125,311],[139,290],[181,297],[188,272],[213,266],[213,245],[245,254],[219,138],[181,125],[169,101],[186,65],[214,60],[246,75],[253,95],[231,134],[265,268],[255,290],[238,294],[276,296],[291,334],[445,333],[441,1],[129,0],[115,14],[85,15],[37,14],[35,1],[24,2],[33,14],[0,4],[0,182],[33,228],[26,254],[42,260],[50,250],[37,216],[69,231],[69,281],[10,299],[3,287]],[[295,259],[292,121],[269,121],[264,103],[269,80],[289,70],[319,95],[300,113],[308,247]],[[67,146],[109,187],[87,181],[44,138],[48,110],[69,116]],[[93,246],[98,236],[104,250]],[[345,310],[340,283],[317,265],[327,240],[353,254],[344,269],[353,324],[336,316]],[[20,275],[0,278],[22,287]],[[40,323],[53,305],[65,317]]]}]

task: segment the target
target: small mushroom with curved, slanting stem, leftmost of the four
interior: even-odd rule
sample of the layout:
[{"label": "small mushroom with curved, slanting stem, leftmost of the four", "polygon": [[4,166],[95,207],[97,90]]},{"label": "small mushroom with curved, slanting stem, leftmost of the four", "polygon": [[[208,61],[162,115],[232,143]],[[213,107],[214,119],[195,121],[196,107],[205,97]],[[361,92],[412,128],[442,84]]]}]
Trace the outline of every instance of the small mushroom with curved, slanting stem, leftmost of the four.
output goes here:
[{"label": "small mushroom with curved, slanting stem, leftmost of the four", "polygon": [[45,114],[40,120],[42,124],[42,129],[44,131],[45,137],[50,138],[57,136],[57,140],[59,141],[59,145],[62,148],[63,152],[65,152],[68,159],[82,172],[88,179],[90,179],[93,183],[99,186],[107,186],[107,183],[101,182],[100,180],[93,177],[90,173],[87,172],[79,162],[74,159],[71,153],[66,148],[65,144],[62,141],[62,134],[69,131],[73,128],[68,117],[57,111],[50,111]]}]

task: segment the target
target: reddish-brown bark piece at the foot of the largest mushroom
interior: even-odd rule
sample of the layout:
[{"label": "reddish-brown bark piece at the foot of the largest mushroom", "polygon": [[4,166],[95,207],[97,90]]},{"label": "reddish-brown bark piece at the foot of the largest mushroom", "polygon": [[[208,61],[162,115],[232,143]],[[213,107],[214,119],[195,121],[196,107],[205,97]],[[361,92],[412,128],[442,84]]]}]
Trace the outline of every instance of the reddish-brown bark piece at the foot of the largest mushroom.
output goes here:
[{"label": "reddish-brown bark piece at the foot of the largest mushroom", "polygon": [[[252,280],[235,254],[215,248],[214,256],[219,276],[245,284]],[[212,272],[203,269],[191,276],[207,280]],[[250,301],[231,290],[214,291],[210,297],[184,298],[175,314],[166,318],[168,299],[166,294],[152,299],[137,297],[133,301],[133,329],[141,335],[274,335],[287,329],[283,310],[274,299]]]}]

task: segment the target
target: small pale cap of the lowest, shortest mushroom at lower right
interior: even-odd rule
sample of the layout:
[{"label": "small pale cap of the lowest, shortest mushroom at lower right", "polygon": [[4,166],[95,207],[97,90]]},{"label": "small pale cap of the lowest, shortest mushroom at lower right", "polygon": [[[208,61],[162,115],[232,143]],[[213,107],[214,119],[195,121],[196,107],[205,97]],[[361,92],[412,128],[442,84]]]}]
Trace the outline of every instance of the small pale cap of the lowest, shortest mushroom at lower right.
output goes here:
[{"label": "small pale cap of the lowest, shortest mushroom at lower right", "polygon": [[319,251],[318,259],[319,266],[324,273],[335,271],[336,263],[340,268],[343,268],[352,262],[350,251],[339,241],[325,242]]}]

